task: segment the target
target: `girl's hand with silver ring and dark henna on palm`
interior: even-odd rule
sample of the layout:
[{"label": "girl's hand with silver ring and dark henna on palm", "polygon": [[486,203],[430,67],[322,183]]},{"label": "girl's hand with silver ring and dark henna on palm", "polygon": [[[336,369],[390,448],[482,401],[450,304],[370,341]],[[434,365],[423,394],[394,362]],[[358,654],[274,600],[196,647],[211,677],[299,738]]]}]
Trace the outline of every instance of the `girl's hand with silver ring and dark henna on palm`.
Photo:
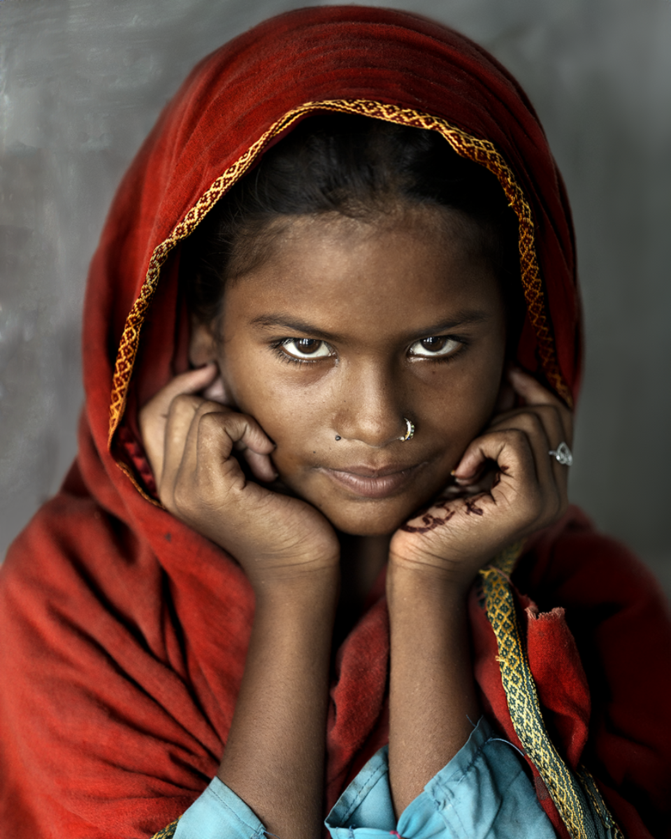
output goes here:
[{"label": "girl's hand with silver ring and dark henna on palm", "polygon": [[570,410],[528,373],[513,369],[509,380],[525,404],[495,416],[473,440],[455,486],[394,534],[390,562],[437,573],[466,592],[499,550],[564,513],[568,467],[549,451],[571,445]]}]

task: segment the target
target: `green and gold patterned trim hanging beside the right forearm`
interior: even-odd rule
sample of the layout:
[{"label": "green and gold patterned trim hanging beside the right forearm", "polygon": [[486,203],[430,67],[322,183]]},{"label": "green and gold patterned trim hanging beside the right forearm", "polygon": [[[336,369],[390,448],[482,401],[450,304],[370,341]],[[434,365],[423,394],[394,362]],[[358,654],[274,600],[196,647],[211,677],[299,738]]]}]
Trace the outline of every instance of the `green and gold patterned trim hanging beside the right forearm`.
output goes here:
[{"label": "green and gold patterned trim hanging beside the right forearm", "polygon": [[572,839],[623,839],[594,779],[582,767],[573,774],[549,738],[520,633],[508,575],[521,545],[513,545],[480,571],[486,614],[497,638],[498,662],[512,725],[538,769]]}]

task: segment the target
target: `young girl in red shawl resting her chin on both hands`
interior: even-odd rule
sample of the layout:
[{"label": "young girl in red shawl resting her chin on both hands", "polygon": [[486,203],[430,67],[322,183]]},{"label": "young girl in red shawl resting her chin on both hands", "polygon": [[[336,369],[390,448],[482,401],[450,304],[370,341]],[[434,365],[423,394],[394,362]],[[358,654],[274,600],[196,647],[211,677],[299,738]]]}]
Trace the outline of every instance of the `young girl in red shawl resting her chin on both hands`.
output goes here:
[{"label": "young girl in red shawl resting her chin on both hands", "polygon": [[579,321],[559,174],[475,44],[325,7],[202,62],[3,566],[7,835],[661,836],[663,604],[567,512]]}]

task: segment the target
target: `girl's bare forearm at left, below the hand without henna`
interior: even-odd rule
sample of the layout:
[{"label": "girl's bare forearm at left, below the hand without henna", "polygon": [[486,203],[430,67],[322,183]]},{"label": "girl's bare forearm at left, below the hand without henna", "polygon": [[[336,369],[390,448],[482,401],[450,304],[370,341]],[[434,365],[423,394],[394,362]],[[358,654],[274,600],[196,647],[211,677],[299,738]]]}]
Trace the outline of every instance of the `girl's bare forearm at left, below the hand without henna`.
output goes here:
[{"label": "girl's bare forearm at left, below the hand without henna", "polygon": [[278,836],[321,835],[337,586],[332,572],[257,592],[245,674],[218,775]]}]

